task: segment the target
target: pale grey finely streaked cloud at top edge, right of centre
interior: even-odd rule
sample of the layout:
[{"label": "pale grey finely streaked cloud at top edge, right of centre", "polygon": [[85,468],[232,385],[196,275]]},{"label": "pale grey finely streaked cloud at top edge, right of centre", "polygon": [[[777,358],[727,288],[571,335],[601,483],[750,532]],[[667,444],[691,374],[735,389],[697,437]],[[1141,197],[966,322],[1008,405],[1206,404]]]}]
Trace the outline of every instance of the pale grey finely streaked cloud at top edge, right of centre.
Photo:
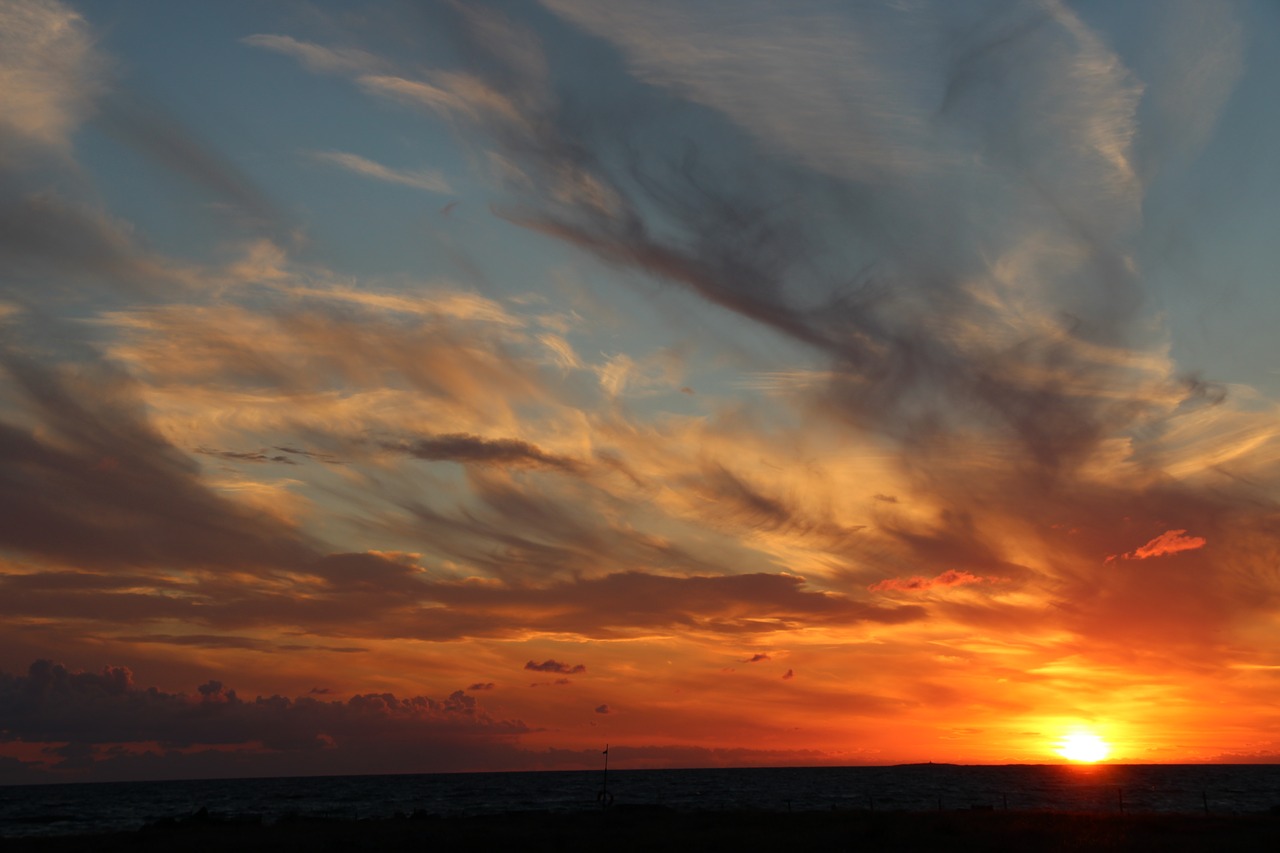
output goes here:
[{"label": "pale grey finely streaked cloud at top edge, right of centre", "polygon": [[[884,181],[927,156],[925,113],[913,104],[915,92],[904,91],[908,78],[886,73],[881,61],[891,45],[923,45],[901,38],[882,15],[855,23],[810,13],[778,26],[760,4],[545,5],[616,42],[645,82],[717,109],[768,149],[835,177]],[[837,118],[850,111],[864,118],[858,127]]]}]

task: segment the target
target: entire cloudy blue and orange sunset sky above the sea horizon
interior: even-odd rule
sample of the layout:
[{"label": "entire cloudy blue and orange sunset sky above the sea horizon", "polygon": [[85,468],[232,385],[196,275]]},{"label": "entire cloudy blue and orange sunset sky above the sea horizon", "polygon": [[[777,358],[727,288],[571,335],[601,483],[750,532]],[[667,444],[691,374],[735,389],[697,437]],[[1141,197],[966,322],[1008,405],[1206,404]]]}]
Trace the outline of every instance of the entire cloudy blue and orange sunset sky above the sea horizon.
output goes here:
[{"label": "entire cloudy blue and orange sunset sky above the sea horizon", "polygon": [[1280,761],[1277,45],[0,0],[0,781]]}]

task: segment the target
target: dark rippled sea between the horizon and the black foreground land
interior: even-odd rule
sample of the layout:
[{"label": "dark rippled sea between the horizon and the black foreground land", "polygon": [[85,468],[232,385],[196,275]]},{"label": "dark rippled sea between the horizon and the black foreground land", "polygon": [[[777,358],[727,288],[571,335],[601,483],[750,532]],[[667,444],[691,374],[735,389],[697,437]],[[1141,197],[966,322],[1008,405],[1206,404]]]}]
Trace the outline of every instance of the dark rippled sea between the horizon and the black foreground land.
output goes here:
[{"label": "dark rippled sea between the horizon and the black foreground land", "polygon": [[[575,812],[600,808],[599,771],[320,776],[0,786],[0,836],[137,829],[205,808],[228,818]],[[828,811],[1280,809],[1280,765],[773,767],[612,770],[613,808]]]}]

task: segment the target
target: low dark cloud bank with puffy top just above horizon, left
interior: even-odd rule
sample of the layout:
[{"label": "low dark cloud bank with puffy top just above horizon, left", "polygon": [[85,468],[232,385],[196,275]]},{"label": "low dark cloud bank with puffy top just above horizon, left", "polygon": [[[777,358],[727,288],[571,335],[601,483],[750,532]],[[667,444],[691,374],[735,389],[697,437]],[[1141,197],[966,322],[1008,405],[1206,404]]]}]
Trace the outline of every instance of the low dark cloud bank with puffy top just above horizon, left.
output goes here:
[{"label": "low dark cloud bank with puffy top just above horizon, left", "polygon": [[[468,689],[489,689],[475,685]],[[312,690],[315,693],[315,690]],[[594,715],[613,715],[608,704]],[[123,666],[73,671],[33,662],[0,671],[0,783],[376,775],[460,770],[595,770],[598,749],[520,744],[530,729],[494,719],[463,690],[443,699],[389,693],[346,701],[241,697],[216,680],[191,693],[133,683]],[[832,763],[818,751],[617,745],[620,767]],[[690,765],[689,762],[694,762]]]}]

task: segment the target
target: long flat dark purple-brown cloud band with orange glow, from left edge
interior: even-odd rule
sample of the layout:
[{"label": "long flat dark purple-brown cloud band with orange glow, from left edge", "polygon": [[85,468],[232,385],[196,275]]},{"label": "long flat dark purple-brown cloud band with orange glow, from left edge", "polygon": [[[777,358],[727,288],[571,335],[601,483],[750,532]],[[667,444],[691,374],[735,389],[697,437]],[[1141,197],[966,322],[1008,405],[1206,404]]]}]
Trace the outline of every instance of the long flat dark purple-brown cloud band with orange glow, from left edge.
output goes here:
[{"label": "long flat dark purple-brown cloud band with orange glow, from left edge", "polygon": [[620,638],[677,629],[749,635],[863,622],[893,625],[924,619],[928,612],[914,603],[870,603],[810,589],[803,578],[786,574],[667,576],[630,571],[547,585],[475,584],[431,578],[379,555],[312,560],[298,567],[284,588],[270,579],[253,584],[243,578],[224,579],[219,573],[169,585],[137,576],[125,587],[123,580],[104,583],[88,573],[63,574],[52,584],[41,579],[0,575],[0,613],[79,620],[95,625],[100,634],[127,626],[123,637],[131,642],[147,637],[137,633],[140,625],[179,620],[201,630],[189,638],[160,630],[154,642],[259,651],[360,652],[362,647],[285,644],[247,639],[237,631],[291,628],[328,638],[424,640],[522,637],[529,631]]}]

